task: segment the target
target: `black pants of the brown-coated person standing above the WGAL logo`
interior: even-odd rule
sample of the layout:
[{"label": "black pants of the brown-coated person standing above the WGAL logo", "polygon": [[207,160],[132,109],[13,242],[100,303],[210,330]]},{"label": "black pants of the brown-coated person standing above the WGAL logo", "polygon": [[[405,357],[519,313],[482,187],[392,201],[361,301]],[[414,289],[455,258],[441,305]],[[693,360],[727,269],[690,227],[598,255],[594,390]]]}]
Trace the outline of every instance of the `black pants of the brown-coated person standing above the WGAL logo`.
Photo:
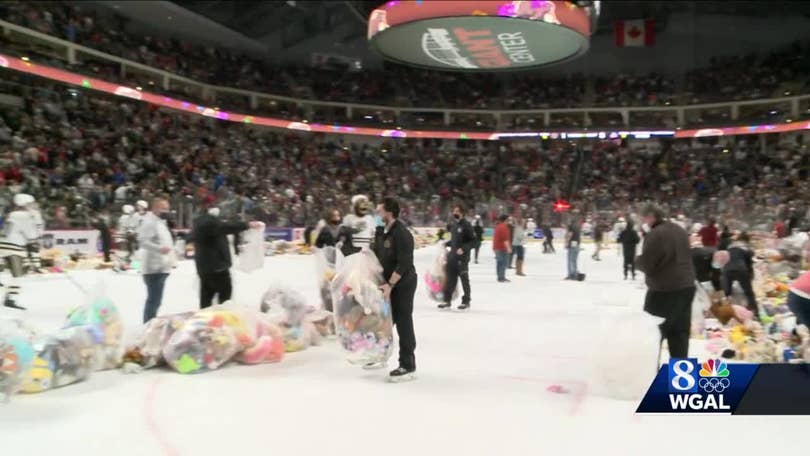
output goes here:
[{"label": "black pants of the brown-coated person standing above the WGAL logo", "polygon": [[659,325],[661,340],[669,345],[670,358],[689,356],[689,329],[692,325],[692,300],[695,287],[677,291],[647,291],[644,311],[664,318]]}]

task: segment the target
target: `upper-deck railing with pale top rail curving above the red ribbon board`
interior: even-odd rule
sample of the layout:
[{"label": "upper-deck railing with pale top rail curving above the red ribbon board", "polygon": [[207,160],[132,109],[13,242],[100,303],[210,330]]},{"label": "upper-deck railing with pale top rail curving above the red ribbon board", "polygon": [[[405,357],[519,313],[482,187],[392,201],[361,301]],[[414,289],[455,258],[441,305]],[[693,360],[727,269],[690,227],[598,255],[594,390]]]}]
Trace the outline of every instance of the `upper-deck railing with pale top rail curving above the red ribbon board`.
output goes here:
[{"label": "upper-deck railing with pale top rail curving above the red ribbon board", "polygon": [[[417,137],[447,137],[447,138],[469,138],[469,139],[503,139],[508,137],[530,137],[530,136],[557,136],[554,132],[549,131],[554,128],[555,123],[552,122],[555,116],[564,116],[567,119],[579,117],[581,121],[575,121],[576,127],[584,129],[585,131],[591,130],[592,133],[581,132],[582,135],[591,134],[594,137],[601,137],[597,132],[599,129],[613,128],[620,130],[628,130],[631,127],[638,128],[644,127],[647,130],[658,129],[659,136],[717,136],[722,134],[745,134],[745,133],[762,133],[769,131],[789,131],[807,129],[810,127],[808,122],[802,121],[802,115],[805,112],[810,112],[810,94],[785,96],[778,98],[767,98],[757,100],[745,101],[728,101],[719,103],[704,103],[694,105],[679,105],[679,106],[644,106],[644,107],[579,107],[579,108],[559,108],[559,109],[520,109],[520,110],[481,110],[481,109],[446,109],[446,108],[419,108],[419,107],[401,107],[401,106],[383,106],[361,103],[341,103],[331,101],[317,101],[310,99],[294,98],[282,95],[273,95],[261,92],[255,92],[244,89],[236,89],[230,87],[223,87],[218,85],[207,84],[193,79],[179,76],[159,68],[154,68],[142,63],[134,62],[131,60],[123,59],[105,52],[98,51],[86,46],[78,45],[70,41],[46,35],[35,30],[31,30],[19,25],[15,25],[3,20],[0,20],[0,30],[7,37],[13,41],[25,42],[37,48],[39,52],[46,53],[52,57],[62,59],[69,64],[77,64],[81,59],[89,56],[94,59],[111,62],[119,66],[121,76],[126,76],[127,73],[137,73],[138,75],[146,75],[150,79],[159,81],[158,85],[163,91],[177,92],[182,89],[186,92],[193,92],[200,94],[202,100],[209,106],[217,106],[220,104],[219,100],[226,102],[229,97],[244,97],[246,106],[251,110],[257,110],[260,106],[269,106],[275,103],[285,103],[294,105],[300,110],[303,115],[300,122],[289,122],[290,119],[285,119],[281,123],[267,123],[255,122],[258,124],[265,124],[267,126],[291,128],[299,130],[321,131],[318,128],[313,128],[318,123],[315,119],[315,113],[320,109],[339,110],[342,111],[342,123],[351,125],[352,123],[367,123],[367,122],[353,122],[359,120],[358,116],[363,113],[383,112],[393,114],[395,117],[388,122],[389,125],[380,125],[384,128],[362,128],[362,127],[341,127],[341,129],[325,128],[324,132],[332,133],[348,133],[348,134],[368,134],[368,135],[381,135],[381,136],[417,136]],[[68,82],[68,81],[63,81]],[[145,93],[145,92],[144,92]],[[149,101],[149,100],[145,100]],[[199,100],[197,100],[199,101]],[[160,104],[160,103],[157,103]],[[687,119],[692,113],[700,113],[705,111],[718,111],[725,113],[724,119],[727,119],[725,124],[741,124],[746,119],[741,119],[741,111],[751,109],[753,112],[769,110],[773,107],[780,107],[781,112],[784,113],[786,120],[785,123],[777,125],[757,125],[755,130],[749,127],[739,128],[701,128],[686,130],[685,128],[689,122]],[[172,106],[169,106],[172,107]],[[219,111],[218,108],[214,108]],[[222,111],[224,112],[224,111]],[[450,127],[454,124],[455,116],[469,116],[476,115],[488,117],[493,120],[495,132],[482,133],[480,129],[473,132],[448,132],[436,131],[435,135],[430,134],[416,134],[408,135],[407,130],[400,128],[398,119],[405,113],[412,113],[424,115],[426,113],[441,114],[443,119],[442,127]],[[645,116],[650,113],[658,115],[659,118],[666,117],[670,119],[663,125],[651,125],[649,121],[639,124],[632,119],[635,116]],[[600,124],[599,120],[594,121],[593,118],[599,118],[605,114],[612,114],[615,119],[621,119],[619,122],[611,123],[610,125]],[[231,115],[233,116],[233,115]],[[543,131],[525,131],[513,130],[508,131],[506,128],[508,122],[516,117],[528,117],[536,119],[539,125],[535,128],[542,128]],[[618,116],[618,117],[617,117]],[[250,119],[254,116],[245,115]],[[262,119],[255,116],[255,119]],[[671,119],[674,119],[672,121]],[[231,119],[233,120],[233,119]],[[284,124],[284,122],[287,122]],[[750,122],[750,120],[749,120]],[[328,126],[334,127],[334,122],[327,121]],[[756,122],[763,123],[761,121]],[[283,125],[282,125],[283,124]],[[790,125],[792,124],[792,125]],[[429,128],[429,127],[428,127]],[[506,131],[505,131],[506,130]],[[422,131],[426,132],[426,131]],[[656,131],[653,131],[655,133]],[[576,133],[575,133],[576,134]],[[576,137],[576,136],[574,136]]]}]

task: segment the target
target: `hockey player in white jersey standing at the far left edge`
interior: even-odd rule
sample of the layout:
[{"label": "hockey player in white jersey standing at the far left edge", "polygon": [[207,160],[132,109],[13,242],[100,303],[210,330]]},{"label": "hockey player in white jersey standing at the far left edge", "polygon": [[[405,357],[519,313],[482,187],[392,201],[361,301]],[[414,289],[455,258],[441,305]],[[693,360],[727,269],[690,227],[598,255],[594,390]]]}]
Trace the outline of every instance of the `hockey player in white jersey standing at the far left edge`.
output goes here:
[{"label": "hockey player in white jersey standing at the far left edge", "polygon": [[14,210],[5,220],[3,240],[0,242],[0,257],[11,272],[8,291],[3,305],[14,309],[25,310],[17,304],[20,286],[17,278],[24,275],[23,260],[27,257],[28,244],[37,239],[36,221],[27,207],[34,203],[34,197],[24,193],[14,195]]}]

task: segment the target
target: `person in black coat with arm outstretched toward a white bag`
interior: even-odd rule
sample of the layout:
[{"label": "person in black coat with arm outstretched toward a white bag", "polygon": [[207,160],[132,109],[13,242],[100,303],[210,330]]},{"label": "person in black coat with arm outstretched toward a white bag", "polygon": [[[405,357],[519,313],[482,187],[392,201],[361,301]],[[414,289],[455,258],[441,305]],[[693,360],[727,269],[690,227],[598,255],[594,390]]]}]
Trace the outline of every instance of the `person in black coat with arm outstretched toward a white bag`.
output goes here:
[{"label": "person in black coat with arm outstretched toward a white bag", "polygon": [[259,222],[224,222],[215,208],[194,220],[191,239],[194,242],[194,264],[200,277],[201,309],[210,307],[214,296],[220,303],[231,299],[233,287],[228,235],[260,226]]}]

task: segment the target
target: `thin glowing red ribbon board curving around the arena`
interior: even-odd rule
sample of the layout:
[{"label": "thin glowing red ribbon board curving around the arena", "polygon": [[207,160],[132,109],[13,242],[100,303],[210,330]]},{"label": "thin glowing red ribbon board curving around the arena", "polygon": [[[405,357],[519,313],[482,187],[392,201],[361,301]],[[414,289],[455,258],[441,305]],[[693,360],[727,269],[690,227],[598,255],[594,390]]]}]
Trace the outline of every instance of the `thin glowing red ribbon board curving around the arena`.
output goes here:
[{"label": "thin glowing red ribbon board curving around the arena", "polygon": [[320,123],[307,123],[306,121],[290,121],[274,119],[272,117],[252,116],[222,111],[216,108],[201,106],[188,101],[176,100],[171,97],[158,95],[143,90],[133,89],[100,79],[90,78],[76,73],[59,70],[46,65],[40,65],[30,60],[18,59],[0,54],[0,68],[20,71],[27,74],[43,77],[53,81],[63,82],[86,89],[97,90],[133,100],[143,101],[191,114],[212,117],[230,122],[263,125],[267,127],[286,130],[309,131],[315,133],[332,133],[343,135],[382,136],[390,138],[429,138],[429,139],[475,139],[475,140],[502,140],[520,138],[539,139],[615,139],[651,137],[695,138],[708,136],[734,136],[761,133],[780,133],[799,130],[810,130],[810,121],[772,125],[748,125],[726,128],[701,128],[690,130],[617,130],[617,131],[536,131],[536,132],[470,132],[470,131],[438,131],[438,130],[408,130],[408,129],[381,129],[369,127],[352,127],[349,125],[324,125]]}]

